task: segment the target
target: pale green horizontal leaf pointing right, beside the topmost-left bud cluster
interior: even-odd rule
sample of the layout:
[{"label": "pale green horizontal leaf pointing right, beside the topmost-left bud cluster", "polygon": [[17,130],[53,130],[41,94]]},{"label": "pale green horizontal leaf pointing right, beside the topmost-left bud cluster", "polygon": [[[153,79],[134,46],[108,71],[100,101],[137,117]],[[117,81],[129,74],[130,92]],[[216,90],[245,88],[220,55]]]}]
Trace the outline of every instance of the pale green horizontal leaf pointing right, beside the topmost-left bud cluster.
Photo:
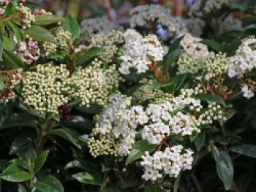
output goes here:
[{"label": "pale green horizontal leaf pointing right, beside the topmost-left bud cluster", "polygon": [[52,23],[58,23],[62,22],[64,18],[61,18],[56,15],[48,15],[48,14],[42,14],[42,15],[35,15],[35,22],[34,25],[39,25],[39,26],[47,26]]}]

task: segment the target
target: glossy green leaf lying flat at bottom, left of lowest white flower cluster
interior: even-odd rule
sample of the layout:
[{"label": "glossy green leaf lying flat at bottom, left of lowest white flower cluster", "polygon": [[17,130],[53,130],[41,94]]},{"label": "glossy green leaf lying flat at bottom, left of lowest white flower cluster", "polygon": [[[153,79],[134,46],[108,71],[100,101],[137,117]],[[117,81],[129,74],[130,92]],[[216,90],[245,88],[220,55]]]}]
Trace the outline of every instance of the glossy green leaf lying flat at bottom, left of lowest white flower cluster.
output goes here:
[{"label": "glossy green leaf lying flat at bottom, left of lowest white flower cluster", "polygon": [[72,177],[78,180],[80,183],[89,185],[101,185],[102,179],[98,174],[93,174],[89,172],[80,172],[78,174],[73,174]]}]

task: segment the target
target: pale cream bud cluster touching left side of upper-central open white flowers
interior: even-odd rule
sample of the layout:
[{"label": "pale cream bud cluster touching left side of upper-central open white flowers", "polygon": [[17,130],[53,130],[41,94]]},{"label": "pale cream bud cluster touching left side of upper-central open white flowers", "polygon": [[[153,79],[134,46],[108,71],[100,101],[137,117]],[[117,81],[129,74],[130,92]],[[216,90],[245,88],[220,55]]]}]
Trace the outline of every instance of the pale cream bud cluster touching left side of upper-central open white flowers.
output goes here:
[{"label": "pale cream bud cluster touching left side of upper-central open white flowers", "polygon": [[102,47],[98,58],[106,64],[113,62],[114,56],[120,57],[121,49],[124,43],[124,34],[121,31],[110,31],[108,34],[97,34],[91,38],[90,46]]}]

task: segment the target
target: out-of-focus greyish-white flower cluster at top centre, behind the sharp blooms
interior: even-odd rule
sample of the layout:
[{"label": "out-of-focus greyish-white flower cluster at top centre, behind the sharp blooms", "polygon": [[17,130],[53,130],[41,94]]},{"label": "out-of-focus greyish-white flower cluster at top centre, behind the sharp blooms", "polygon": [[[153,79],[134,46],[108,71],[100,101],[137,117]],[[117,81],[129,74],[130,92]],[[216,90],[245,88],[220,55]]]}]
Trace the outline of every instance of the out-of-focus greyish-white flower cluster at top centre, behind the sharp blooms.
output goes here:
[{"label": "out-of-focus greyish-white flower cluster at top centre, behind the sharp blooms", "polygon": [[[173,18],[170,9],[162,7],[159,4],[140,5],[130,11],[132,18],[130,26],[146,26],[148,28],[156,27],[157,24],[167,28],[174,34],[187,32],[185,23],[181,18]],[[156,30],[156,28],[154,28]]]}]

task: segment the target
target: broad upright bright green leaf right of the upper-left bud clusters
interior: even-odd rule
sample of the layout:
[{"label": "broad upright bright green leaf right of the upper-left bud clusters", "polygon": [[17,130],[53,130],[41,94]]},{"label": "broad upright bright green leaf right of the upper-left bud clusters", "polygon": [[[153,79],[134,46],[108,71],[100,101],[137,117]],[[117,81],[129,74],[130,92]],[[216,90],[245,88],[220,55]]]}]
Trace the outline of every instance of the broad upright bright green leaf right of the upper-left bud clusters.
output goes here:
[{"label": "broad upright bright green leaf right of the upper-left bud clusters", "polygon": [[80,26],[78,20],[73,18],[71,15],[67,15],[66,19],[62,23],[64,30],[69,31],[72,36],[72,41],[74,42],[80,36]]}]

